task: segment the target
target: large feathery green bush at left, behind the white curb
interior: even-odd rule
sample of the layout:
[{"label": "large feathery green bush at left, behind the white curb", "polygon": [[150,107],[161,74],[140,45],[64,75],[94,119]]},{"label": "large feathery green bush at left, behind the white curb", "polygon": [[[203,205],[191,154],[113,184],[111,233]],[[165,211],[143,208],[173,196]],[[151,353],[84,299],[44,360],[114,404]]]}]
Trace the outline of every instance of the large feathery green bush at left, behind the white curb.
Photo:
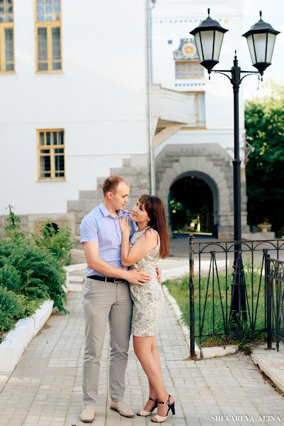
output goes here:
[{"label": "large feathery green bush at left, behind the white curb", "polygon": [[63,307],[66,295],[62,288],[65,271],[50,251],[35,246],[25,237],[1,240],[0,268],[0,284],[4,288],[23,294],[28,300],[52,299],[58,310],[67,312]]}]

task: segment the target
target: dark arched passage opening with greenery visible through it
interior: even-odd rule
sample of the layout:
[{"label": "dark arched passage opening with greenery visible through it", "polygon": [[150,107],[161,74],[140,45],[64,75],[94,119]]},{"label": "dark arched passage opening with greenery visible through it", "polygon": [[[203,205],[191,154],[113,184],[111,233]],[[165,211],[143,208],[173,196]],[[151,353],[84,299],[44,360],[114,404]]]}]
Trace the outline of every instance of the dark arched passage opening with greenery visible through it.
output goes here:
[{"label": "dark arched passage opening with greenery visible through it", "polygon": [[218,204],[218,188],[209,175],[198,170],[178,175],[169,191],[172,231],[217,235]]}]

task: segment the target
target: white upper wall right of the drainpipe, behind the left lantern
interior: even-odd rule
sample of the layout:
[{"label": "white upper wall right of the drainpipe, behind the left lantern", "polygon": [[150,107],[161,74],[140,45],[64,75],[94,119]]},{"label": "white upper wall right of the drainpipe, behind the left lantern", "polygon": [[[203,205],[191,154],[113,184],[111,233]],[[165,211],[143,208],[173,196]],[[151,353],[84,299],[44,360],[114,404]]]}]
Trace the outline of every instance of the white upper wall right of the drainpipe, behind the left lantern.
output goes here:
[{"label": "white upper wall right of the drainpipe, behind the left lantern", "polygon": [[[207,7],[211,7],[210,16],[215,19],[221,18],[220,24],[229,31],[224,35],[220,62],[216,69],[230,70],[234,60],[234,50],[241,46],[242,13],[244,0],[208,1],[188,0],[157,0],[153,9],[153,80],[163,87],[182,91],[204,91],[205,92],[205,121],[209,130],[226,131],[228,139],[226,146],[234,146],[233,141],[233,90],[231,83],[222,75],[212,73],[208,80],[205,70],[204,80],[175,80],[175,61],[173,51],[180,45],[181,38],[192,38],[190,34],[200,21],[207,18]],[[168,44],[173,40],[173,44]],[[241,51],[238,52],[240,59]],[[241,65],[241,62],[240,62]],[[190,86],[179,86],[177,84],[192,84]],[[240,128],[244,129],[244,102],[240,92]],[[188,132],[187,132],[188,133]],[[192,142],[197,135],[192,134]],[[221,136],[220,140],[223,139]],[[173,139],[171,138],[171,142]],[[216,143],[208,133],[207,141]],[[180,143],[180,141],[178,141]]]}]

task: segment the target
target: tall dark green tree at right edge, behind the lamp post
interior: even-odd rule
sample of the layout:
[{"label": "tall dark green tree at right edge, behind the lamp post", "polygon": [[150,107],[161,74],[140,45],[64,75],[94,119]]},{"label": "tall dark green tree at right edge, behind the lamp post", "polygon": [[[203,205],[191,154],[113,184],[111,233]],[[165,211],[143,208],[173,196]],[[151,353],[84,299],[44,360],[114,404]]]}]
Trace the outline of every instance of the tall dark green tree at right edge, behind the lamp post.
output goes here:
[{"label": "tall dark green tree at right edge, behind the lamp post", "polygon": [[249,224],[284,226],[284,86],[246,102],[246,139],[254,148],[246,165]]}]

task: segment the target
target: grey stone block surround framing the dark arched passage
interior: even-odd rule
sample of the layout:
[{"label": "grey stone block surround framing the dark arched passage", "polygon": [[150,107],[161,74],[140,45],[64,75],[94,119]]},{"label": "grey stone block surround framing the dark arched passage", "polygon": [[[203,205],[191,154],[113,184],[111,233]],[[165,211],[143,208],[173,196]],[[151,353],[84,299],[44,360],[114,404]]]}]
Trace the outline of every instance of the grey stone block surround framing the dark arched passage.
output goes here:
[{"label": "grey stone block surround framing the dark arched passage", "polygon": [[[217,143],[166,145],[155,158],[155,170],[157,195],[167,208],[168,192],[175,180],[182,175],[202,177],[214,195],[214,224],[218,226],[218,237],[229,239],[233,236],[233,166],[222,146]],[[241,222],[244,231],[248,228],[245,190],[243,178]]]}]

